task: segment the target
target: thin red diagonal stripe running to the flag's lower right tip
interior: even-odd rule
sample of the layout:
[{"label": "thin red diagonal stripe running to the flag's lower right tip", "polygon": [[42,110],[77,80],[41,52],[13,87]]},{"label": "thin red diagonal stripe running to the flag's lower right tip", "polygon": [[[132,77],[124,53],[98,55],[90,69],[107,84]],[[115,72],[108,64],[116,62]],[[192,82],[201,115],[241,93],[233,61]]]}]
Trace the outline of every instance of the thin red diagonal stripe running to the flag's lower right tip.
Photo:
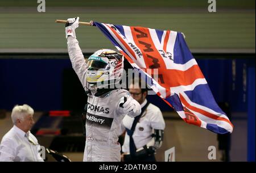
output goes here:
[{"label": "thin red diagonal stripe running to the flag's lower right tip", "polygon": [[214,119],[214,120],[218,120],[218,121],[226,121],[226,123],[229,123],[229,124],[233,127],[233,124],[232,124],[229,120],[227,120],[227,119],[225,119],[225,118],[223,118],[223,117],[219,117],[219,116],[217,116],[217,115],[214,115],[213,113],[209,113],[209,112],[207,112],[207,111],[204,111],[203,109],[200,109],[200,108],[196,108],[196,107],[194,107],[194,106],[191,106],[191,105],[187,102],[187,100],[185,100],[185,98],[184,98],[181,94],[179,94],[179,95],[180,95],[180,101],[181,101],[186,107],[188,107],[189,109],[191,109],[192,111],[201,113],[202,115],[207,116],[207,117],[209,117],[210,119]]}]

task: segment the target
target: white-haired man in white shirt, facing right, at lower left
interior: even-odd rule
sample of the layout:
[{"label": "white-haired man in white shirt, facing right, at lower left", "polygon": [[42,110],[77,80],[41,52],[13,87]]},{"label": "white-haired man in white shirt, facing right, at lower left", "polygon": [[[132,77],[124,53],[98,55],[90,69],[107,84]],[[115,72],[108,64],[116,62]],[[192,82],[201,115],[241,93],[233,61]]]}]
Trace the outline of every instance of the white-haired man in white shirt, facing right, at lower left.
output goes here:
[{"label": "white-haired man in white shirt, facing right, at lower left", "polygon": [[3,136],[0,144],[0,162],[43,162],[40,145],[30,133],[34,125],[34,110],[27,104],[16,105],[11,112],[13,128]]}]

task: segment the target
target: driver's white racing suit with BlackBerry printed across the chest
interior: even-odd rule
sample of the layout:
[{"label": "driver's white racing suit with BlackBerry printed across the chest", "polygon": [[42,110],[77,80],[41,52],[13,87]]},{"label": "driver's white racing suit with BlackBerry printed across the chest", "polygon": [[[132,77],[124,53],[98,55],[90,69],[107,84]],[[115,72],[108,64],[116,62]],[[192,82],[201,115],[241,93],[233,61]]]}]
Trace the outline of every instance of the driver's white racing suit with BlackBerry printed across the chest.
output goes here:
[{"label": "driver's white racing suit with BlackBerry printed across the chest", "polygon": [[[68,53],[72,67],[76,71],[85,91],[89,84],[86,82],[87,64],[85,62],[79,42],[72,36],[68,37]],[[121,160],[121,146],[118,143],[118,132],[121,121],[125,116],[119,102],[123,96],[131,98],[128,91],[112,90],[102,96],[88,94],[86,114],[86,142],[83,161],[113,162]],[[136,100],[134,113],[131,117],[141,113],[141,106]]]}]

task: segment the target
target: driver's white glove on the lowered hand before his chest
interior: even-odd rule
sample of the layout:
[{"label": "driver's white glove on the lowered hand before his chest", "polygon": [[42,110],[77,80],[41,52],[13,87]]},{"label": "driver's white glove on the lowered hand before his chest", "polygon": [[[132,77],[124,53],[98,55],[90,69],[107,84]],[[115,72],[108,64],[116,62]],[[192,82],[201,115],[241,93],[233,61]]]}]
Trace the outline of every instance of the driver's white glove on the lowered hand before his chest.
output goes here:
[{"label": "driver's white glove on the lowered hand before his chest", "polygon": [[141,113],[141,105],[133,98],[123,97],[118,105],[122,112],[128,116],[138,116]]}]

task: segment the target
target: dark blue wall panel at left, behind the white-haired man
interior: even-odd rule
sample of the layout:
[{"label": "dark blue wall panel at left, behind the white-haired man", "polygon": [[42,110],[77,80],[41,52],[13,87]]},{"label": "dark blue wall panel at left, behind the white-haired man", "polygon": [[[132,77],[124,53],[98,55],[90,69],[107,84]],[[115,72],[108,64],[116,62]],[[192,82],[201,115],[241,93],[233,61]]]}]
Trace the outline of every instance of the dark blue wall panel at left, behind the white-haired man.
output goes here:
[{"label": "dark blue wall panel at left, behind the white-haired man", "polygon": [[0,60],[0,109],[29,104],[36,111],[61,109],[62,73],[67,60]]}]

